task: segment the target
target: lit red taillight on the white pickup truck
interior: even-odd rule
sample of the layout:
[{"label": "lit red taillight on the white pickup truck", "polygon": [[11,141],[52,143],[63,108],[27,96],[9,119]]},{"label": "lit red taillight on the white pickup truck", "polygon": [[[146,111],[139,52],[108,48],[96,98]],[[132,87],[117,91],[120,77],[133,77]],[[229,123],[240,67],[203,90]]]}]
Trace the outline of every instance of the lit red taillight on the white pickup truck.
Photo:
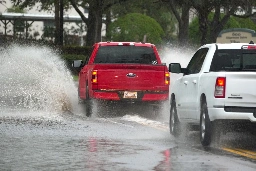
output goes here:
[{"label": "lit red taillight on the white pickup truck", "polygon": [[216,83],[215,83],[214,97],[225,98],[225,91],[226,91],[226,77],[217,77]]}]

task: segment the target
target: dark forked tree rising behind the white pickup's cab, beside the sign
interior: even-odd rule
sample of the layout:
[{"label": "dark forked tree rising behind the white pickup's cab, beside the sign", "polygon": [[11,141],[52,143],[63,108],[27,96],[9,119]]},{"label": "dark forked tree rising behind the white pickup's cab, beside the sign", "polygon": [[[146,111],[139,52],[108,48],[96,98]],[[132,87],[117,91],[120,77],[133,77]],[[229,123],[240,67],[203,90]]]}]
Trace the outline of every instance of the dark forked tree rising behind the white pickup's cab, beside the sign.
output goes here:
[{"label": "dark forked tree rising behind the white pickup's cab, beside the sign", "polygon": [[[215,42],[231,16],[240,18],[252,16],[252,6],[256,5],[255,0],[193,0],[191,2],[198,13],[201,44]],[[223,10],[224,13],[222,13]],[[212,11],[214,16],[209,20],[208,16]],[[224,14],[223,17],[221,17],[222,14]]]}]

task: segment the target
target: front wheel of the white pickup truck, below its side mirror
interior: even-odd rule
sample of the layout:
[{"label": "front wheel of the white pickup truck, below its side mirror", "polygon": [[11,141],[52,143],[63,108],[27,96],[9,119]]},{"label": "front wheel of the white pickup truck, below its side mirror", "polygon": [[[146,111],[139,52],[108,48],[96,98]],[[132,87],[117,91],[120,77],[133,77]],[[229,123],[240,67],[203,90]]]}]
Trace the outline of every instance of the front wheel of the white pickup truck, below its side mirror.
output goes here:
[{"label": "front wheel of the white pickup truck, below its side mirror", "polygon": [[171,102],[169,127],[170,127],[170,133],[174,137],[179,137],[181,128],[180,128],[180,122],[177,116],[175,99],[173,99]]}]

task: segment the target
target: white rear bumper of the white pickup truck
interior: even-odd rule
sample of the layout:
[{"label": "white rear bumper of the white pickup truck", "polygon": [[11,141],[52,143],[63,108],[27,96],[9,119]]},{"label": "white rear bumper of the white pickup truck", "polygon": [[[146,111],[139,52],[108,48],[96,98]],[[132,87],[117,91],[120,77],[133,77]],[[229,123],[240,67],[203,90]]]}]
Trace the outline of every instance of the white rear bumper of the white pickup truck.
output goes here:
[{"label": "white rear bumper of the white pickup truck", "polygon": [[256,123],[256,108],[208,107],[211,121],[215,120],[247,120]]}]

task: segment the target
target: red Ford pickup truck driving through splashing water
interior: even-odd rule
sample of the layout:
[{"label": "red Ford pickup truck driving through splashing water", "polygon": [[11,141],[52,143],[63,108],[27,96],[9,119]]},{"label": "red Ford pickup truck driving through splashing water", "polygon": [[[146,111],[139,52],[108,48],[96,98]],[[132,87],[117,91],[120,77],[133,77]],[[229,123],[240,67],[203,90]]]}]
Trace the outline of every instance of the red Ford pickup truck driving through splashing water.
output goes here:
[{"label": "red Ford pickup truck driving through splashing water", "polygon": [[151,43],[98,42],[80,67],[78,95],[92,114],[92,100],[159,103],[169,100],[170,74]]}]

